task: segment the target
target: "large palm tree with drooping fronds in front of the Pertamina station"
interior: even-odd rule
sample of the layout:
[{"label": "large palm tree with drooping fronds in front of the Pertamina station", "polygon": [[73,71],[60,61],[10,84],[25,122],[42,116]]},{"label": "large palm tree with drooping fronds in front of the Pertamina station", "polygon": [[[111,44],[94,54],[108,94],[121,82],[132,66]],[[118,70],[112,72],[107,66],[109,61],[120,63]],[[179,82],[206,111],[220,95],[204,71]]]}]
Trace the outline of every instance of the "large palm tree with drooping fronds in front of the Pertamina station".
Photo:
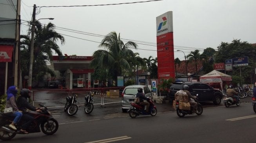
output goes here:
[{"label": "large palm tree with drooping fronds in front of the Pertamina station", "polygon": [[131,71],[131,66],[127,59],[135,57],[130,48],[137,48],[136,43],[128,41],[123,43],[120,33],[110,32],[102,39],[99,47],[104,50],[97,50],[93,53],[92,67],[99,66],[108,70],[109,76],[115,81],[117,76],[122,75],[122,71]]}]

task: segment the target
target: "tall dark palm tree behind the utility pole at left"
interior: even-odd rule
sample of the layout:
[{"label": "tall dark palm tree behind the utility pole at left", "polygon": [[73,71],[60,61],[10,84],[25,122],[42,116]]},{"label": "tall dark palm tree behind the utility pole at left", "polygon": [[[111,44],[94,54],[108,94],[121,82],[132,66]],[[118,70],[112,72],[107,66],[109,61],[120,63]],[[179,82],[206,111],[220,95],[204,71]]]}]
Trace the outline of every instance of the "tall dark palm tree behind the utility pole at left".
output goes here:
[{"label": "tall dark palm tree behind the utility pole at left", "polygon": [[[30,53],[31,37],[28,35],[20,36],[21,44],[21,70],[22,75],[28,75],[29,59],[27,58]],[[65,38],[55,31],[55,25],[48,23],[41,26],[39,21],[36,21],[36,30],[34,37],[34,62],[33,62],[33,79],[42,80],[46,73],[55,76],[53,70],[48,68],[47,61],[51,60],[53,52],[62,55],[57,41],[60,40],[61,44],[65,43]]]}]

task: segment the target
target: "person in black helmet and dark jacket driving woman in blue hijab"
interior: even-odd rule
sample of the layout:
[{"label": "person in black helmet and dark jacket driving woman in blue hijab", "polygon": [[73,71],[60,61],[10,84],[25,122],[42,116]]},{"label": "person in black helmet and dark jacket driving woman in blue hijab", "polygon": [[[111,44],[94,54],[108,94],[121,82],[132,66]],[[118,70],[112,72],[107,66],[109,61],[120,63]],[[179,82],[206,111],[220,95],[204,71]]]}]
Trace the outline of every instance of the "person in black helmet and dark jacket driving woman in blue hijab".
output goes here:
[{"label": "person in black helmet and dark jacket driving woman in blue hijab", "polygon": [[[37,111],[37,112],[41,112],[40,109],[36,109],[36,107],[34,107],[33,105],[31,105],[28,101],[27,98],[30,98],[30,93],[32,91],[30,91],[29,89],[22,89],[20,91],[20,96],[17,99],[17,106],[18,109],[21,110],[23,112],[23,116],[22,116],[22,120],[27,121],[26,123],[24,123],[22,125],[22,130],[26,130],[27,127],[29,127],[29,125],[31,124],[31,122],[33,122],[34,118],[32,116],[30,116],[29,114],[27,114],[26,109],[29,109],[31,111]],[[28,134],[27,131],[25,131],[26,134]]]}]

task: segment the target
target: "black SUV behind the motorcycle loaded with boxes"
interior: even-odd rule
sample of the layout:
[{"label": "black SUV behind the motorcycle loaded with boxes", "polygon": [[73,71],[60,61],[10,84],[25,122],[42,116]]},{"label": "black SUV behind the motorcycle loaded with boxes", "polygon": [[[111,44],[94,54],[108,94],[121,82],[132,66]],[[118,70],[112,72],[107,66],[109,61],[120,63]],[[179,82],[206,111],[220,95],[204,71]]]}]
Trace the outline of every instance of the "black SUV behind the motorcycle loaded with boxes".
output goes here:
[{"label": "black SUV behind the motorcycle loaded with boxes", "polygon": [[178,90],[182,90],[183,85],[189,86],[191,95],[198,94],[198,102],[212,101],[215,105],[219,105],[222,100],[222,92],[211,88],[208,84],[203,82],[173,82],[169,89],[169,97],[174,100],[174,94]]}]

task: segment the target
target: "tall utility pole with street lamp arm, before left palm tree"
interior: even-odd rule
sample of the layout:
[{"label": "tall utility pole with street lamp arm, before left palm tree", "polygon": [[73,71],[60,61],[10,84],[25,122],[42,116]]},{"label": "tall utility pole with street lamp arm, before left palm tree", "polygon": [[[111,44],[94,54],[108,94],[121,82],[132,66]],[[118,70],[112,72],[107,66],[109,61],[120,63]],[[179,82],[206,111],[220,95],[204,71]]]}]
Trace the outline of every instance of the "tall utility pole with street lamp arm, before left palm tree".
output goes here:
[{"label": "tall utility pole with street lamp arm, before left palm tree", "polygon": [[32,22],[32,32],[31,32],[31,45],[30,45],[30,59],[29,59],[29,80],[28,80],[28,89],[31,89],[32,86],[32,69],[33,69],[33,60],[34,60],[34,31],[35,31],[35,22],[36,22],[36,5],[34,4],[33,8],[33,18]]}]

